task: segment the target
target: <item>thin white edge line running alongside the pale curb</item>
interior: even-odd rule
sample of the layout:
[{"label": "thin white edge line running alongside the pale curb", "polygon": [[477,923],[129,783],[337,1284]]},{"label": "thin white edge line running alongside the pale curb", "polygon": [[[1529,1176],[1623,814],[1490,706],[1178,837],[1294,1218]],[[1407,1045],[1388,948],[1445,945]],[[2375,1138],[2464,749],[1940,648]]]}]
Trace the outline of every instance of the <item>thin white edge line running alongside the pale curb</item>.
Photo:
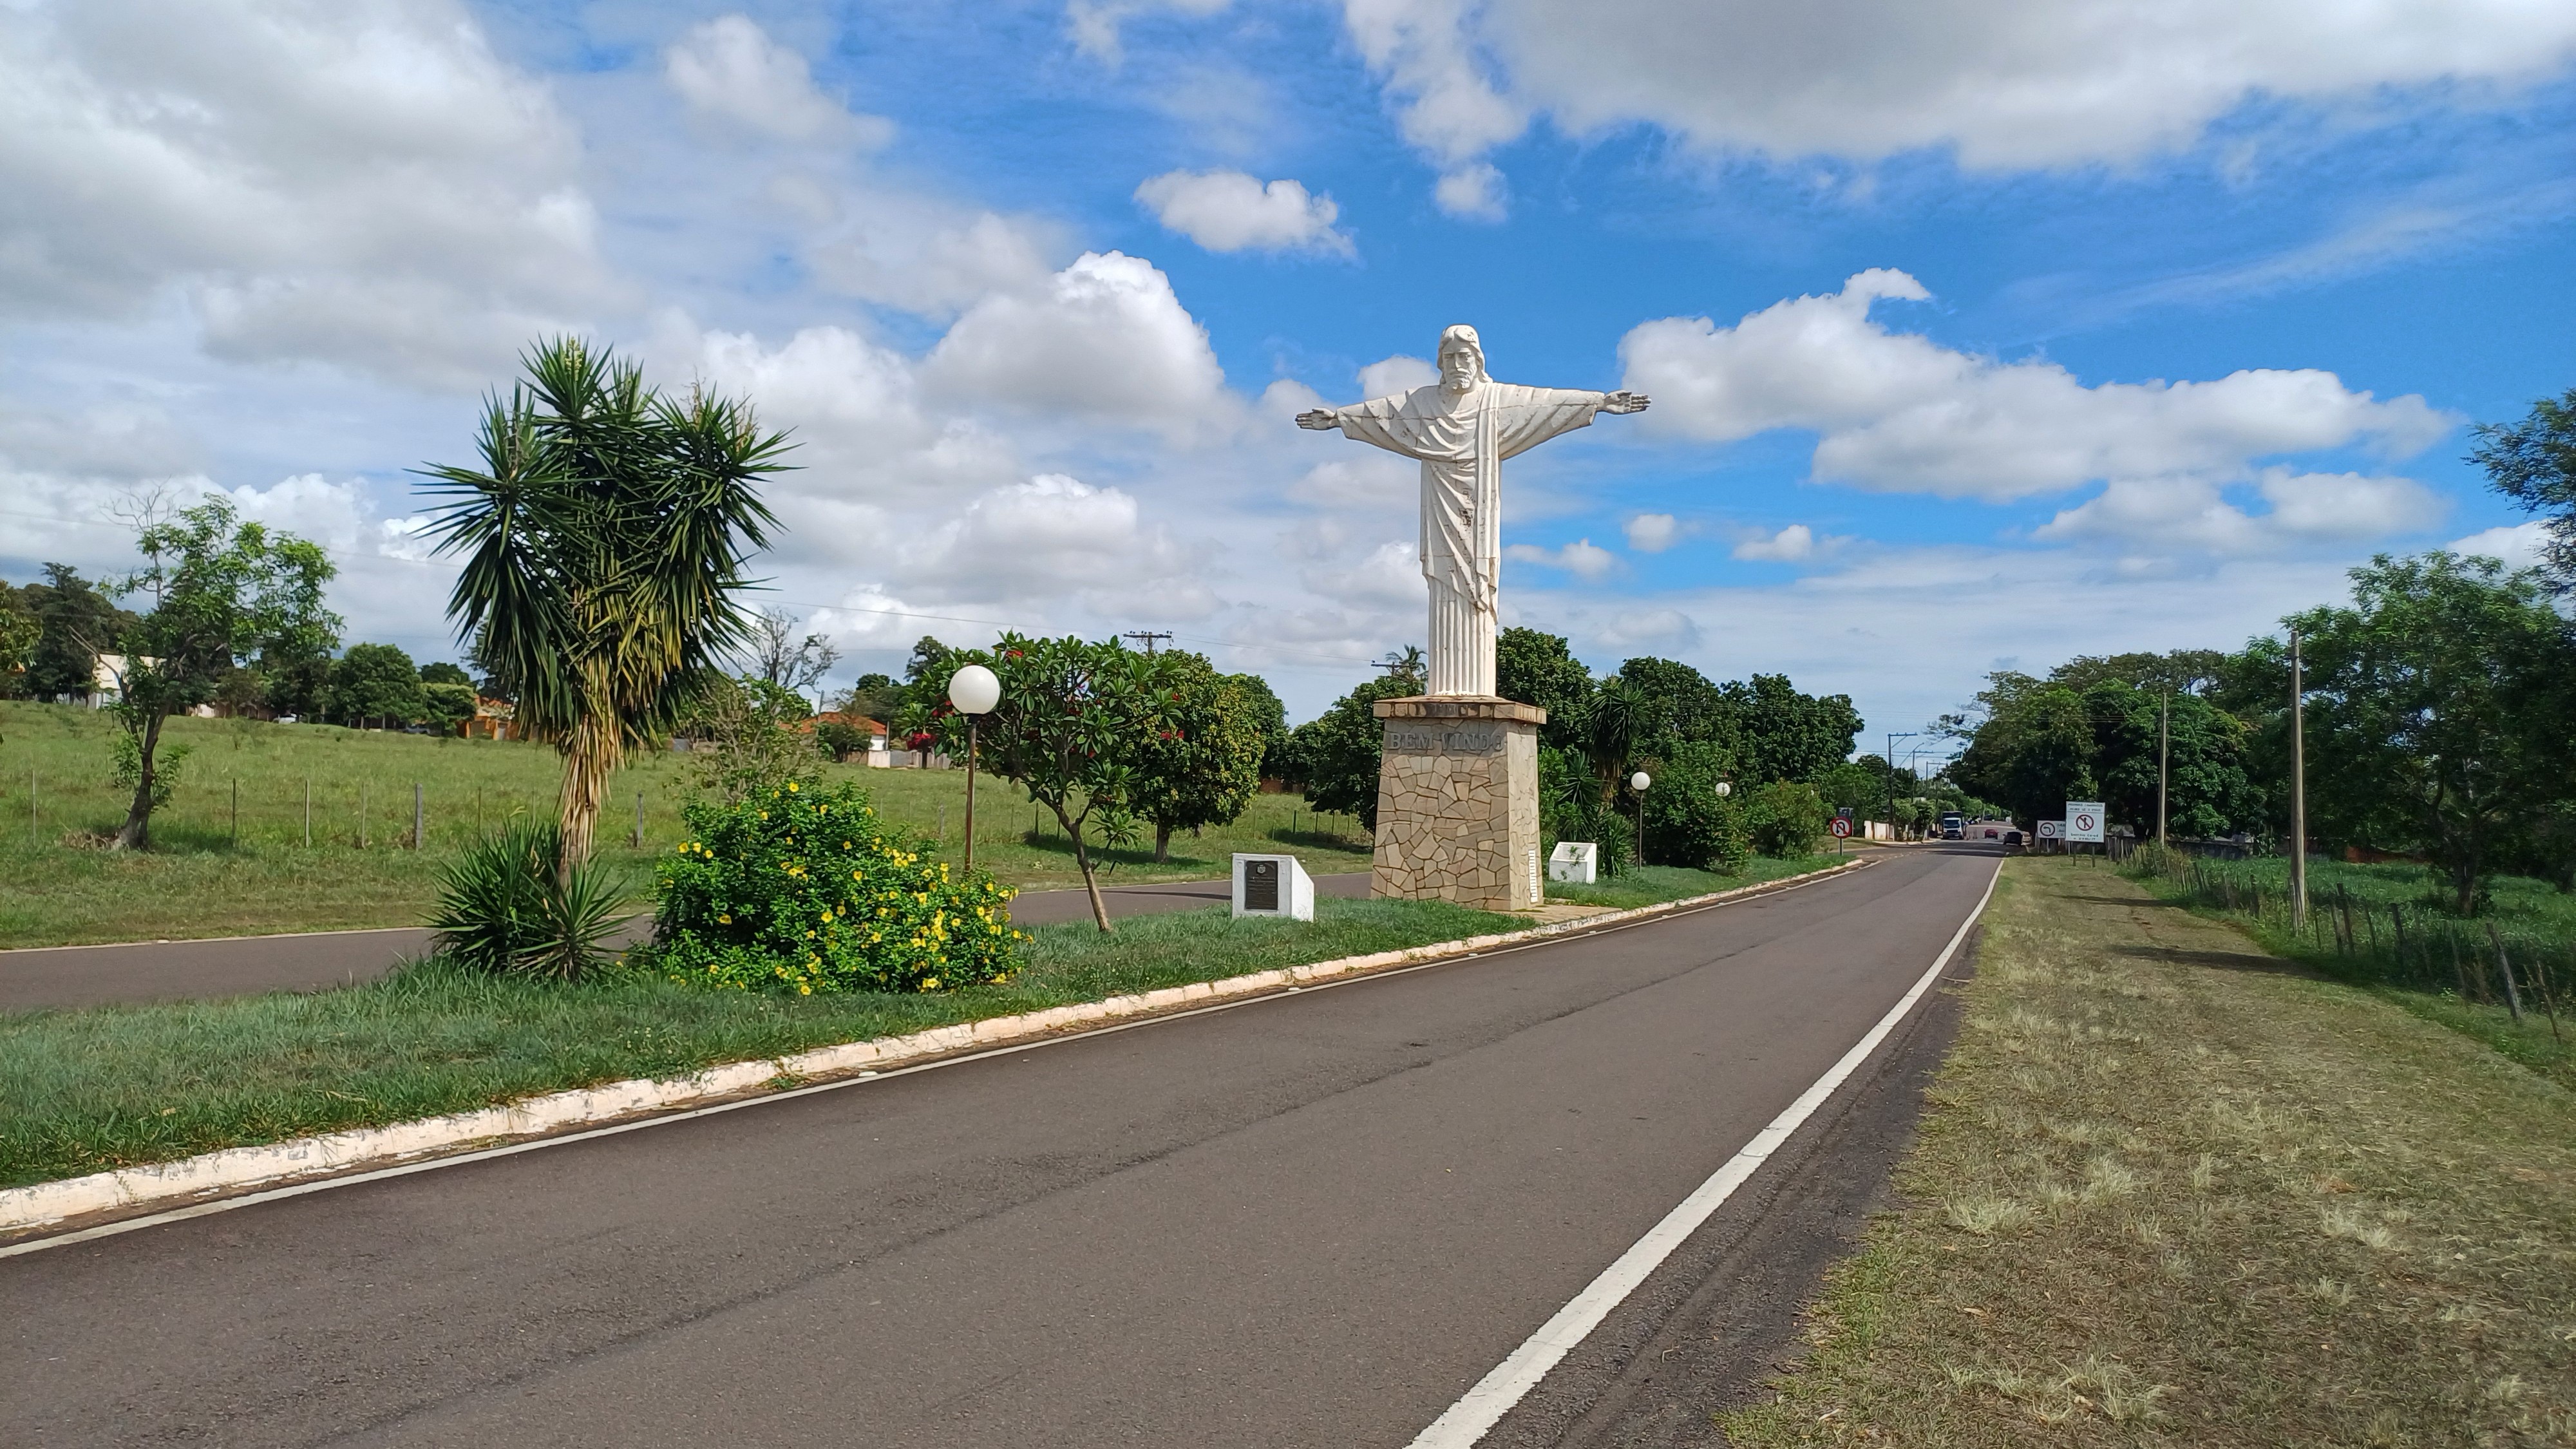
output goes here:
[{"label": "thin white edge line running alongside the pale curb", "polygon": [[[2002,871],[2002,866],[1996,866],[1996,871]],[[719,1101],[714,1106],[690,1106],[690,1109],[683,1109],[683,1111],[665,1111],[665,1114],[654,1114],[654,1116],[641,1116],[636,1122],[618,1122],[618,1124],[611,1124],[611,1127],[590,1127],[590,1129],[582,1129],[582,1132],[564,1132],[564,1134],[556,1134],[556,1137],[533,1137],[528,1142],[510,1142],[505,1147],[482,1147],[477,1152],[453,1152],[453,1155],[428,1158],[422,1163],[399,1163],[399,1165],[392,1165],[392,1168],[371,1168],[371,1171],[363,1171],[363,1173],[345,1173],[345,1176],[335,1176],[335,1178],[314,1178],[309,1183],[289,1183],[289,1186],[276,1186],[276,1189],[260,1189],[260,1191],[247,1191],[247,1194],[240,1194],[240,1196],[224,1196],[224,1199],[216,1199],[216,1201],[198,1201],[198,1204],[191,1204],[191,1207],[173,1207],[167,1212],[152,1212],[152,1214],[144,1214],[144,1217],[121,1217],[116,1222],[100,1222],[98,1227],[82,1227],[82,1230],[75,1230],[75,1232],[54,1232],[49,1238],[23,1238],[18,1243],[0,1243],[0,1258],[18,1258],[23,1253],[44,1253],[46,1248],[70,1248],[72,1243],[93,1243],[98,1238],[116,1238],[121,1232],[139,1232],[144,1227],[160,1227],[165,1222],[185,1222],[191,1217],[206,1217],[206,1214],[214,1214],[214,1212],[232,1212],[237,1207],[255,1207],[255,1204],[263,1204],[263,1201],[278,1201],[278,1199],[289,1199],[289,1196],[307,1196],[307,1194],[332,1191],[332,1189],[353,1189],[358,1183],[376,1183],[376,1181],[384,1181],[384,1178],[407,1178],[412,1173],[435,1173],[438,1168],[461,1168],[466,1163],[487,1163],[492,1158],[515,1158],[520,1152],[538,1152],[544,1147],[569,1147],[572,1142],[592,1142],[598,1137],[621,1137],[626,1132],[644,1132],[647,1127],[670,1127],[675,1122],[696,1122],[701,1116],[716,1116],[716,1114],[724,1114],[724,1111],[742,1111],[747,1106],[770,1106],[773,1101],[796,1101],[799,1096],[814,1096],[814,1093],[824,1093],[824,1091],[842,1091],[842,1088],[855,1088],[855,1085],[866,1085],[866,1083],[884,1083],[884,1080],[894,1080],[894,1078],[909,1078],[912,1073],[935,1073],[940,1067],[961,1067],[966,1062],[981,1062],[981,1060],[989,1060],[989,1057],[1012,1057],[1012,1055],[1020,1055],[1020,1052],[1036,1052],[1041,1047],[1064,1047],[1069,1042],[1087,1042],[1092,1036],[1108,1036],[1113,1031],[1136,1031],[1139,1026],[1162,1026],[1167,1021],[1182,1021],[1182,1018],[1190,1018],[1190,1016],[1208,1016],[1208,1013],[1216,1013],[1216,1011],[1236,1011],[1236,1008],[1244,1008],[1244,1006],[1260,1006],[1265,1000],[1285,1000],[1288,995],[1311,995],[1311,993],[1319,993],[1319,990],[1337,990],[1337,987],[1345,987],[1345,985],[1365,985],[1365,982],[1381,982],[1381,980],[1391,980],[1391,977],[1409,977],[1414,972],[1427,972],[1427,969],[1435,969],[1435,967],[1455,967],[1455,964],[1463,964],[1463,962],[1486,962],[1486,959],[1510,957],[1510,954],[1517,954],[1517,951],[1535,951],[1540,946],[1566,946],[1571,941],[1584,941],[1584,938],[1592,938],[1592,936],[1610,936],[1613,931],[1636,931],[1641,926],[1662,926],[1662,923],[1669,923],[1669,920],[1687,920],[1687,918],[1700,915],[1705,910],[1726,910],[1728,905],[1747,905],[1747,902],[1754,902],[1754,900],[1775,900],[1775,897],[1783,897],[1783,895],[1788,895],[1793,890],[1806,890],[1806,887],[1826,884],[1826,882],[1837,882],[1837,879],[1850,879],[1850,877],[1793,879],[1790,884],[1783,884],[1780,890],[1765,890],[1765,892],[1757,892],[1757,895],[1739,895],[1734,900],[1713,900],[1708,905],[1690,905],[1690,908],[1672,910],[1672,913],[1664,913],[1664,915],[1649,915],[1643,920],[1620,920],[1615,926],[1602,926],[1600,931],[1577,931],[1577,933],[1569,933],[1569,936],[1551,936],[1546,941],[1520,941],[1520,944],[1512,944],[1512,946],[1494,946],[1492,951],[1471,951],[1471,954],[1463,954],[1463,957],[1440,957],[1440,959],[1432,959],[1432,962],[1414,962],[1409,967],[1386,967],[1386,969],[1363,972],[1363,975],[1342,977],[1342,980],[1306,982],[1303,987],[1288,987],[1288,990],[1275,990],[1275,993],[1262,993],[1262,995],[1244,995],[1244,998],[1236,998],[1236,1000],[1216,1000],[1216,1003],[1195,1006],[1195,1008],[1188,1008],[1188,1011],[1164,1011],[1164,1013],[1157,1013],[1157,1016],[1139,1016],[1133,1021],[1113,1021],[1108,1026],[1092,1026],[1090,1031],[1066,1031],[1061,1036],[1041,1036],[1036,1042],[1012,1042],[1007,1047],[989,1047],[984,1052],[966,1052],[966,1055],[958,1055],[958,1057],[938,1057],[933,1062],[914,1062],[909,1067],[889,1067],[884,1073],[858,1073],[858,1075],[850,1075],[850,1078],[835,1078],[835,1080],[814,1083],[814,1085],[804,1085],[804,1088],[788,1088],[788,1091],[775,1091],[775,1093],[765,1093],[765,1096],[747,1096],[747,1098],[737,1098],[737,1101]],[[1994,890],[1994,887],[1989,884],[1986,890]]]}]

